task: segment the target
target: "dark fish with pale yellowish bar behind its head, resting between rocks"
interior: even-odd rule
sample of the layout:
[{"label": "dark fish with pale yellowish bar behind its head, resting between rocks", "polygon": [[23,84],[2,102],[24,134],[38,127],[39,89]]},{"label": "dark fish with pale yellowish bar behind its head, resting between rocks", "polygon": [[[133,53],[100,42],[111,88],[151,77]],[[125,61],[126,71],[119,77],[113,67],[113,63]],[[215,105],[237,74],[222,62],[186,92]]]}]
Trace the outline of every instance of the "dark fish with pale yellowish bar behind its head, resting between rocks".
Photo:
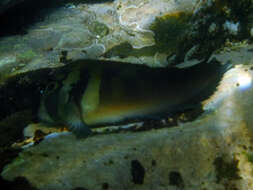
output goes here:
[{"label": "dark fish with pale yellowish bar behind its head, resting between rocks", "polygon": [[229,68],[217,61],[178,69],[86,60],[47,86],[38,115],[87,136],[92,127],[194,108],[213,94]]}]

